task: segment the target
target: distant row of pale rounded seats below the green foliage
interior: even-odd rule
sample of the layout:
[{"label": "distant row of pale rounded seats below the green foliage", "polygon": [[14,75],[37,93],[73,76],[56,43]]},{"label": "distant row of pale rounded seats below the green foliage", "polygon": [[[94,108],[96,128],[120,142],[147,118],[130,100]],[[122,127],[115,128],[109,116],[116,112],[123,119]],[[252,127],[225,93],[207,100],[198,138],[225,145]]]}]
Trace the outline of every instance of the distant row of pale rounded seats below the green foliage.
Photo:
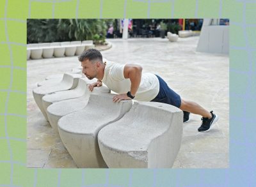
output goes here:
[{"label": "distant row of pale rounded seats below the green foliage", "polygon": [[31,43],[27,45],[27,59],[79,56],[84,50],[95,48],[92,40]]}]

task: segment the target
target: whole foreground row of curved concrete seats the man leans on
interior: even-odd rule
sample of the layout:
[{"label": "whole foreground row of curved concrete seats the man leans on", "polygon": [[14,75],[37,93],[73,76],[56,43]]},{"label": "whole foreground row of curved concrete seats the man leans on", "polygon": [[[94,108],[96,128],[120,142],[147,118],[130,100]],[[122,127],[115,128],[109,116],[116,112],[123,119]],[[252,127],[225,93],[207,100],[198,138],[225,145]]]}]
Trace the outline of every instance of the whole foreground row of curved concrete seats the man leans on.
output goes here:
[{"label": "whole foreground row of curved concrete seats the man leans on", "polygon": [[[110,90],[105,86],[96,87],[95,91],[90,94],[88,84],[91,82],[87,78],[81,78],[79,74],[64,73],[63,79],[59,84],[44,85],[33,89],[33,96],[38,108],[51,124],[52,130],[60,134],[63,145],[72,156],[77,167],[171,168],[180,149],[182,111],[179,108],[163,103],[135,102],[132,105],[132,100],[114,103],[112,98],[115,94],[110,94]],[[67,101],[69,101],[69,105],[67,105]],[[141,112],[136,114],[135,111],[138,108],[141,109]],[[130,109],[131,111],[129,112]],[[111,110],[111,113],[109,113],[109,110]],[[154,126],[157,123],[157,119],[149,117],[152,116],[152,112],[157,112],[160,116],[169,116],[161,124],[158,124],[159,129],[157,131],[152,128],[154,133],[150,130],[150,126]],[[118,121],[119,119],[121,120]],[[125,149],[125,151],[121,151],[124,154],[116,154],[115,151],[109,154],[109,150],[113,151],[116,143],[113,142],[112,144],[111,141],[113,139],[109,140],[108,137],[112,133],[116,133],[118,128],[123,128],[122,125],[118,125],[119,123],[125,125],[125,131],[123,131],[126,134],[125,138],[134,141],[130,142],[129,147],[125,147],[127,140],[125,140],[122,133],[117,133],[116,138],[118,136],[121,139],[122,137],[124,138],[123,141],[118,140],[120,146]],[[116,125],[118,128],[111,128]],[[137,135],[132,133],[134,126],[140,132]],[[143,130],[144,128],[149,131]],[[149,136],[148,132],[150,131],[151,135]],[[99,133],[101,139],[98,143]],[[163,142],[166,138],[168,141],[170,139],[172,145],[166,144],[161,148],[156,145],[157,142]],[[140,146],[138,142],[141,142],[144,146]],[[108,145],[107,149],[106,145]],[[134,152],[134,150],[137,150],[137,148],[138,153],[135,153],[136,151]],[[150,150],[148,153],[147,149]],[[157,154],[161,157],[156,156],[159,151],[166,150],[168,150],[168,154]],[[116,157],[116,155],[118,156]],[[117,163],[122,164],[116,164],[116,160],[119,160]]]}]

